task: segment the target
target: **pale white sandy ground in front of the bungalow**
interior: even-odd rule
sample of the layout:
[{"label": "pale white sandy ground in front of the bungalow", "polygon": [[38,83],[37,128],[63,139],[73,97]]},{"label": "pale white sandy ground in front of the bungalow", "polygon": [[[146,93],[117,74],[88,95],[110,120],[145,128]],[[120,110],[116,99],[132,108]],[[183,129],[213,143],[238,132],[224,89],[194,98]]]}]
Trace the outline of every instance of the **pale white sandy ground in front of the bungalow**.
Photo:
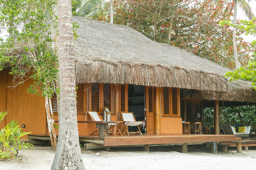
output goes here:
[{"label": "pale white sandy ground in front of the bungalow", "polygon": [[[151,148],[150,148],[151,149]],[[110,152],[102,150],[83,151],[83,160],[87,170],[234,170],[255,169],[256,150],[243,150],[243,153],[231,154],[198,150],[188,153],[179,153],[168,147],[154,147],[149,152],[141,148],[111,149]],[[174,149],[175,150],[175,149]],[[100,155],[96,155],[100,153]],[[49,147],[36,147],[35,150],[20,150],[18,157],[10,161],[0,161],[0,170],[46,170],[51,168],[54,151]]]}]

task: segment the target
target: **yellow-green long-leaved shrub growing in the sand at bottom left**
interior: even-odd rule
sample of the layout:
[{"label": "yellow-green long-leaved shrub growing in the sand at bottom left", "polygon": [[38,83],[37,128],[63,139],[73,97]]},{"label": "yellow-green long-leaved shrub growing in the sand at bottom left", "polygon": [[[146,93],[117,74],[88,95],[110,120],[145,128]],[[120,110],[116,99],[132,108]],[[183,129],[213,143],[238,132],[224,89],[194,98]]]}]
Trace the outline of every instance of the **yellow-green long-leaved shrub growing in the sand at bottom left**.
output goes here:
[{"label": "yellow-green long-leaved shrub growing in the sand at bottom left", "polygon": [[[7,115],[7,112],[0,112],[0,122]],[[11,121],[0,130],[0,160],[12,159],[21,148],[32,148],[30,143],[21,141],[21,137],[31,132],[23,132],[19,128],[18,121]]]}]

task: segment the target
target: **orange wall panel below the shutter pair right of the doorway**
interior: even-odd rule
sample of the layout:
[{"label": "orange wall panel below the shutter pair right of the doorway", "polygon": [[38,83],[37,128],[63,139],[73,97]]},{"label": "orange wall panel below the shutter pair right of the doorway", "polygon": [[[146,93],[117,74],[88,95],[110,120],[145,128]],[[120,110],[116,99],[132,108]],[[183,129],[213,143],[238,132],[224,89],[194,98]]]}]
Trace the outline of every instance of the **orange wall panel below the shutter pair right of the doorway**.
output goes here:
[{"label": "orange wall panel below the shutter pair right of the doorway", "polygon": [[182,119],[180,117],[161,117],[161,134],[182,134]]}]

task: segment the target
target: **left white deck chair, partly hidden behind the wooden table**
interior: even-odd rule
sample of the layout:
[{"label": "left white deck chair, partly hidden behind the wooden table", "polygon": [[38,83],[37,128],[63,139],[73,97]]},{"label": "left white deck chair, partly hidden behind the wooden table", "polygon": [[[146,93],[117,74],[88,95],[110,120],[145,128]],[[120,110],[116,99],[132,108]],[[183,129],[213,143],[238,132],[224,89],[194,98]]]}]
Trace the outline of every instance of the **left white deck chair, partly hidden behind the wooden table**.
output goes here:
[{"label": "left white deck chair, partly hidden behind the wooden table", "polygon": [[[93,121],[103,121],[103,119],[101,117],[99,117],[97,112],[86,111],[86,114],[88,114],[92,118]],[[116,126],[117,126],[117,130],[119,130],[118,125],[119,125],[119,122],[115,122],[113,124],[108,124],[108,128],[105,131],[105,135],[107,135],[107,134],[116,135],[116,132],[115,132],[116,131]],[[98,133],[98,132],[99,132],[99,129],[93,131],[90,135],[92,135],[94,133]],[[121,133],[120,130],[119,130],[119,133]]]}]

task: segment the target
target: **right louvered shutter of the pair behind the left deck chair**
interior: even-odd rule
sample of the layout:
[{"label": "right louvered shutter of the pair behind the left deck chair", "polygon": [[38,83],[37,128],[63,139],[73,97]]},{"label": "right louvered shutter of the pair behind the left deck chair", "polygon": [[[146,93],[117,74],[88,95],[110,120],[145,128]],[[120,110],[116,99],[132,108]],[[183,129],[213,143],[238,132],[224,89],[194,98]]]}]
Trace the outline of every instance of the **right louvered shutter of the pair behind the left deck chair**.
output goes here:
[{"label": "right louvered shutter of the pair behind the left deck chair", "polygon": [[[103,85],[103,108],[107,107],[109,111],[112,113],[112,96],[113,96],[113,91],[112,91],[112,85],[111,84],[104,84]],[[103,111],[102,111],[103,112]]]}]

